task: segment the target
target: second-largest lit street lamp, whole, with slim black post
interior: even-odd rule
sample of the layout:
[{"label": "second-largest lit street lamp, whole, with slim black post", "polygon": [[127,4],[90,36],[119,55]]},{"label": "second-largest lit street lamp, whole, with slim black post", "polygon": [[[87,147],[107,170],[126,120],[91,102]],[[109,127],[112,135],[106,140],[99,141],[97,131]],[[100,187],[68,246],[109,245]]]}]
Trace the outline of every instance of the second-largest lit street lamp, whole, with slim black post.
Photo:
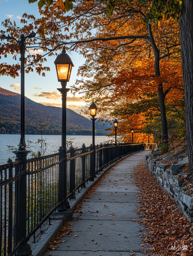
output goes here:
[{"label": "second-largest lit street lamp, whole, with slim black post", "polygon": [[90,105],[89,107],[89,110],[90,110],[90,114],[92,116],[91,120],[93,122],[93,147],[92,147],[92,150],[93,150],[93,157],[92,157],[92,168],[91,168],[91,172],[90,172],[90,181],[93,181],[94,180],[94,172],[95,172],[95,120],[97,118],[95,118],[96,116],[96,113],[97,113],[97,107],[93,101],[93,103]]}]

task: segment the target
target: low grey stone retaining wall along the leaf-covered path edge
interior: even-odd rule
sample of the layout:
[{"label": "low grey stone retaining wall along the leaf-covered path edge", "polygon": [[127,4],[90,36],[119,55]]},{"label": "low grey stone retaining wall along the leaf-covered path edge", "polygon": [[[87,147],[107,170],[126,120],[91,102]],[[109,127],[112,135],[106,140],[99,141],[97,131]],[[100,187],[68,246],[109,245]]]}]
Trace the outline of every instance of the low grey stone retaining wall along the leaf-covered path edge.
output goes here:
[{"label": "low grey stone retaining wall along the leaf-covered path edge", "polygon": [[193,222],[193,194],[184,194],[186,190],[183,189],[183,178],[188,178],[188,175],[184,175],[180,170],[174,172],[174,165],[178,164],[182,163],[175,162],[169,166],[166,163],[156,161],[149,155],[145,156],[145,166],[151,171],[163,190],[167,191],[169,196],[175,200],[179,210],[183,212],[187,220]]}]

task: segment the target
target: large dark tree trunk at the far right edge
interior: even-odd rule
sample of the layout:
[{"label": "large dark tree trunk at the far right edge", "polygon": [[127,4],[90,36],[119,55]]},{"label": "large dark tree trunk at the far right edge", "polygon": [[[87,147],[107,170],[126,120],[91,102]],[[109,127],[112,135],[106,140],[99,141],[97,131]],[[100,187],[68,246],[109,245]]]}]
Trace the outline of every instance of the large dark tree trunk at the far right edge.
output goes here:
[{"label": "large dark tree trunk at the far right edge", "polygon": [[182,1],[180,42],[185,93],[186,137],[189,169],[193,168],[193,1]]}]

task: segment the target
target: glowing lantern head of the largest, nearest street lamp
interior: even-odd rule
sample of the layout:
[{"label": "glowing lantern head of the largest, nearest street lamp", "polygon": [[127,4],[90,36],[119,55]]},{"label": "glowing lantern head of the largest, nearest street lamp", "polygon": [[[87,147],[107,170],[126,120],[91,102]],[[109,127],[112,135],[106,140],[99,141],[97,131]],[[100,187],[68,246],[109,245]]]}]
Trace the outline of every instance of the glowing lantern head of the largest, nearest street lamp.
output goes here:
[{"label": "glowing lantern head of the largest, nearest street lamp", "polygon": [[65,47],[62,52],[56,57],[54,64],[56,65],[56,72],[58,77],[58,82],[69,82],[72,67],[74,64],[66,53]]}]

